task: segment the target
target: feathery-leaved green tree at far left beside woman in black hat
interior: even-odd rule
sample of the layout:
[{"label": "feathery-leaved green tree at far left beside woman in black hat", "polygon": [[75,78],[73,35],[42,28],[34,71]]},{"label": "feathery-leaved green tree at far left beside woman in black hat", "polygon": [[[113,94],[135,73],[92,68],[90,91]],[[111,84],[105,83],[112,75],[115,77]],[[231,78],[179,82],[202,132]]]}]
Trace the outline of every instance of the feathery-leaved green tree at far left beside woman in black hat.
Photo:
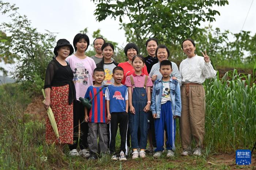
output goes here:
[{"label": "feathery-leaved green tree at far left beside woman in black hat", "polygon": [[[17,80],[25,80],[27,87],[42,87],[47,64],[53,54],[55,35],[37,32],[25,15],[20,15],[14,5],[0,1],[0,12],[11,13],[10,23],[2,23],[0,29],[10,33],[6,41],[0,42],[1,59],[11,62],[16,59],[16,68],[11,74]],[[36,83],[35,83],[36,82]]]}]

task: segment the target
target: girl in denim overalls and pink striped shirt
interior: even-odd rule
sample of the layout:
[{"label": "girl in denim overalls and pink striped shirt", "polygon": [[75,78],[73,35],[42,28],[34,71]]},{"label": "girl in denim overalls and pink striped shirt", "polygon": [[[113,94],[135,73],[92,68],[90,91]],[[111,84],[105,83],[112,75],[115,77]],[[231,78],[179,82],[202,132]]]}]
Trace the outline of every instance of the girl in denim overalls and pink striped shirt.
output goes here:
[{"label": "girl in denim overalls and pink striped shirt", "polygon": [[[129,98],[129,131],[131,133],[132,159],[139,156],[146,157],[147,133],[149,128],[149,114],[151,104],[150,88],[153,86],[149,76],[142,73],[145,61],[142,55],[135,55],[132,58],[134,73],[127,76],[125,85],[128,87]],[[138,141],[138,130],[140,141]],[[137,149],[140,149],[138,153]]]}]

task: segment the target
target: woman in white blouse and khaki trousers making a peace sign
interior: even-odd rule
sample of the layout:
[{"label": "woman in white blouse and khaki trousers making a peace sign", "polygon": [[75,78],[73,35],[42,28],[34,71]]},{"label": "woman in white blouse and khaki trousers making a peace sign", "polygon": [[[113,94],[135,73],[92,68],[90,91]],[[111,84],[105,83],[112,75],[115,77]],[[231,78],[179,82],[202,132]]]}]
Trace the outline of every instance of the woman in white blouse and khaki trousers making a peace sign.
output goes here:
[{"label": "woman in white blouse and khaki trousers making a peace sign", "polygon": [[196,46],[192,39],[182,42],[182,50],[187,58],[180,63],[181,74],[181,118],[180,135],[181,146],[184,151],[182,156],[188,156],[191,151],[191,135],[195,139],[196,148],[194,155],[201,155],[204,139],[205,119],[205,91],[203,82],[214,78],[216,71],[213,69],[210,57],[202,52],[202,56],[195,54]]}]

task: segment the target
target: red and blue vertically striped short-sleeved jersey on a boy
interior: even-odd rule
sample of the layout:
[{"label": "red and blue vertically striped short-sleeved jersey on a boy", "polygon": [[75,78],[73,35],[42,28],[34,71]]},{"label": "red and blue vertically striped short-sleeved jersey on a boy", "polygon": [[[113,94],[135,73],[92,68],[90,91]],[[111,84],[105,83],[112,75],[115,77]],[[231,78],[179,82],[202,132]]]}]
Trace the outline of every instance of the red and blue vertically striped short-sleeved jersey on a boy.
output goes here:
[{"label": "red and blue vertically striped short-sleeved jersey on a boy", "polygon": [[[84,98],[91,99],[97,94],[101,87],[88,87]],[[91,109],[89,112],[89,121],[91,123],[106,123],[107,111],[106,111],[106,100],[105,100],[106,88],[103,88],[92,101]]]}]

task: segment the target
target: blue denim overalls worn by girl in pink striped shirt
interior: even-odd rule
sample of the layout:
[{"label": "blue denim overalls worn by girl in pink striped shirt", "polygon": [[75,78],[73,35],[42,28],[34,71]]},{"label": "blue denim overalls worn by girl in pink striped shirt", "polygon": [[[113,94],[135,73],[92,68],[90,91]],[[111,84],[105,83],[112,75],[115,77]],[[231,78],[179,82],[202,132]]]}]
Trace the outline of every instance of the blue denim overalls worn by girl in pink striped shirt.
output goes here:
[{"label": "blue denim overalls worn by girl in pink striped shirt", "polygon": [[[133,88],[132,106],[135,114],[129,112],[129,131],[131,133],[132,149],[146,149],[147,133],[149,128],[149,112],[143,109],[147,105],[147,93],[143,87]],[[138,141],[138,130],[140,131],[140,141]]]}]

